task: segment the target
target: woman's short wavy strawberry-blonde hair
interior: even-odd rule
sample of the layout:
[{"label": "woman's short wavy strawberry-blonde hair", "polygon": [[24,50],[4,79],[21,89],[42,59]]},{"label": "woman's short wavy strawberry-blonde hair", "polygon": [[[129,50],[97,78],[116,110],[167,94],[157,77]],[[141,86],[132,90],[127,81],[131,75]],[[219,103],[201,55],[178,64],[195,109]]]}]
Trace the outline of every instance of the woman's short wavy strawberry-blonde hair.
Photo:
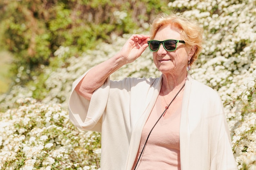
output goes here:
[{"label": "woman's short wavy strawberry-blonde hair", "polygon": [[190,63],[193,64],[193,62],[197,60],[198,55],[202,51],[203,29],[196,22],[190,21],[182,17],[182,15],[178,16],[174,13],[166,15],[165,13],[162,13],[160,15],[157,15],[157,17],[155,18],[151,25],[150,39],[153,40],[153,38],[155,38],[157,31],[162,26],[166,25],[175,26],[181,30],[181,38],[186,42],[185,45],[187,47],[196,46],[195,53],[190,60]]}]

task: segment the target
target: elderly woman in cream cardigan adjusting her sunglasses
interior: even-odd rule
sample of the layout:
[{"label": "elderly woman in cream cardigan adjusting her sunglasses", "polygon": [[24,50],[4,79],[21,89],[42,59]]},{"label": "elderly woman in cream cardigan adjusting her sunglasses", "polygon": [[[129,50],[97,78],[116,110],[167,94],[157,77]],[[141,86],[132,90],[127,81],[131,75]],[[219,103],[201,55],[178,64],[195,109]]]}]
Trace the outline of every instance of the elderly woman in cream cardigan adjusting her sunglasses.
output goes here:
[{"label": "elderly woman in cream cardigan adjusting her sunglasses", "polygon": [[[160,77],[110,80],[148,46]],[[101,170],[236,170],[220,97],[188,73],[201,49],[200,26],[159,15],[73,83],[70,120],[101,132]]]}]

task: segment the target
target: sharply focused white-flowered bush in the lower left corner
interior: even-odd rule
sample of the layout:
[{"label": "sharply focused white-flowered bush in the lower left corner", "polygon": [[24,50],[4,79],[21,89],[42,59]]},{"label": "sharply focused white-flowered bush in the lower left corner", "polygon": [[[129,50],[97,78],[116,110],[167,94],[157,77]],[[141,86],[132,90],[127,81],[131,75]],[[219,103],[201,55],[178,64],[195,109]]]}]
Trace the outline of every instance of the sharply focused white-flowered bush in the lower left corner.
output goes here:
[{"label": "sharply focused white-flowered bush in the lower left corner", "polygon": [[0,169],[89,170],[99,168],[101,135],[74,127],[60,104],[18,99],[1,113]]}]

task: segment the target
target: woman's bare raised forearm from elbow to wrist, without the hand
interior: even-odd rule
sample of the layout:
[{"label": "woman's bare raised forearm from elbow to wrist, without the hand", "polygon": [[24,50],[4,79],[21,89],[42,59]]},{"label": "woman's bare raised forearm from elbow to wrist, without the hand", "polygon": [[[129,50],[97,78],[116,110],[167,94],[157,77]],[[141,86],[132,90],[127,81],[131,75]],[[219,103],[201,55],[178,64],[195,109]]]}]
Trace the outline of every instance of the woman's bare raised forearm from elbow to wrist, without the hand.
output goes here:
[{"label": "woman's bare raised forearm from elbow to wrist, without the hand", "polygon": [[99,88],[106,79],[119,68],[127,64],[124,57],[117,53],[114,57],[93,67],[76,86],[76,92],[90,100],[93,92]]}]

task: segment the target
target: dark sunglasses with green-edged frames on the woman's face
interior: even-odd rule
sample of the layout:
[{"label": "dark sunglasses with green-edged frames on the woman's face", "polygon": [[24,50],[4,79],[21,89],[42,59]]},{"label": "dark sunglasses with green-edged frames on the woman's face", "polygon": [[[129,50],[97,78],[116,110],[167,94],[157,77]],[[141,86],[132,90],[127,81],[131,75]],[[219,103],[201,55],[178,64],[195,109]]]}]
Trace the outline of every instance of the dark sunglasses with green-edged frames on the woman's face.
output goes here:
[{"label": "dark sunglasses with green-edged frames on the woman's face", "polygon": [[182,40],[164,40],[164,41],[157,41],[157,40],[150,40],[148,41],[149,50],[155,52],[159,49],[160,44],[163,44],[164,49],[166,51],[175,51],[177,48],[177,42],[185,44]]}]

